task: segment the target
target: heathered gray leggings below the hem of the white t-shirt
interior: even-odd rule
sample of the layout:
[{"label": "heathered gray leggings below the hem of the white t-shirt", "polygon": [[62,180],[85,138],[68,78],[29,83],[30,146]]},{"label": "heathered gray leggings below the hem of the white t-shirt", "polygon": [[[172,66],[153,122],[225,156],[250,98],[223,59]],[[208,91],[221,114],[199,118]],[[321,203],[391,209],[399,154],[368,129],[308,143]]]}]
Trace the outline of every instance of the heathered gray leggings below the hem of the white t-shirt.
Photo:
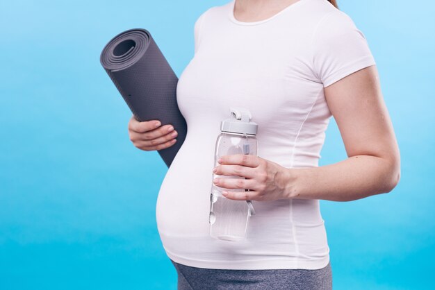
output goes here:
[{"label": "heathered gray leggings below the hem of the white t-shirt", "polygon": [[328,263],[318,270],[221,270],[196,268],[172,261],[178,274],[178,290],[208,289],[332,289],[332,270]]}]

